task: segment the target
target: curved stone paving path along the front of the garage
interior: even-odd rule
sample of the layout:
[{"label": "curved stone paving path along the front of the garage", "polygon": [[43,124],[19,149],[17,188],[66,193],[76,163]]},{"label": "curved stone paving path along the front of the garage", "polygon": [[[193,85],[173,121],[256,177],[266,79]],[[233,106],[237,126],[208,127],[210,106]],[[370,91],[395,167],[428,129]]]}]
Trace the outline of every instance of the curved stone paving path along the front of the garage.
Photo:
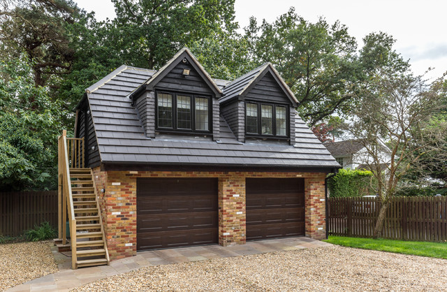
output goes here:
[{"label": "curved stone paving path along the front of the garage", "polygon": [[54,249],[54,258],[56,258],[59,264],[59,272],[31,280],[22,285],[15,286],[8,291],[71,291],[89,282],[147,266],[329,246],[332,246],[332,244],[310,238],[298,237],[260,240],[247,242],[244,245],[231,245],[229,247],[221,247],[220,245],[214,244],[156,251],[139,251],[136,256],[112,261],[110,265],[79,268],[78,270],[71,270],[71,258]]}]

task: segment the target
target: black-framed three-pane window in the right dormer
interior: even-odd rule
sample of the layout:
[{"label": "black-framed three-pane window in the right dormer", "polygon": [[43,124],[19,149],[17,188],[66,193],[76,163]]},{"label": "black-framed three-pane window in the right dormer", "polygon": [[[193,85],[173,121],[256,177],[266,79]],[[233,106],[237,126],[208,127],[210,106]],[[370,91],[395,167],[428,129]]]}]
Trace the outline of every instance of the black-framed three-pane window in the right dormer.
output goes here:
[{"label": "black-framed three-pane window in the right dormer", "polygon": [[288,107],[249,101],[245,106],[247,136],[288,137]]}]

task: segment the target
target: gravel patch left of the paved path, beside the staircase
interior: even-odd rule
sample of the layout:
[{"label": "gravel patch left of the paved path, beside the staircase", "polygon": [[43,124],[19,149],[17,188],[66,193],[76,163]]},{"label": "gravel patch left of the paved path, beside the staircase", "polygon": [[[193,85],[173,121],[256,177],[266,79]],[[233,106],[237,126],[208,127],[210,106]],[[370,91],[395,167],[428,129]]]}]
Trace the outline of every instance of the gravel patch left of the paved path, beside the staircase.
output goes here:
[{"label": "gravel patch left of the paved path, beside the staircase", "polygon": [[50,242],[0,244],[0,291],[57,271]]}]

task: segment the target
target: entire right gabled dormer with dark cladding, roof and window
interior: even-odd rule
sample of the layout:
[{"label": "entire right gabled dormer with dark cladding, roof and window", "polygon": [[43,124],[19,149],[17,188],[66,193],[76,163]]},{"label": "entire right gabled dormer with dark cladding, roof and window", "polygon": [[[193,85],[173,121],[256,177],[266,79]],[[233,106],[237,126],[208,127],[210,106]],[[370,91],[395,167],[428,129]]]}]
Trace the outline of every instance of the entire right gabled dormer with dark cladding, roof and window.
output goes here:
[{"label": "entire right gabled dormer with dark cladding, roof and window", "polygon": [[221,114],[240,142],[295,140],[297,99],[272,64],[230,82],[219,100]]}]

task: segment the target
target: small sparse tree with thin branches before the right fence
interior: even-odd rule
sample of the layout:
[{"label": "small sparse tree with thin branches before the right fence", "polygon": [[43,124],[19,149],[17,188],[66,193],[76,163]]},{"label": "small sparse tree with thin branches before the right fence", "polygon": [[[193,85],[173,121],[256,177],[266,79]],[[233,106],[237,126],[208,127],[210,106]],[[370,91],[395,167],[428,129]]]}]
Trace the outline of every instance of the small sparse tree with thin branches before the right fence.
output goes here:
[{"label": "small sparse tree with thin branches before the right fence", "polygon": [[[444,141],[447,124],[434,126],[432,117],[442,108],[441,85],[441,80],[427,84],[423,76],[409,71],[383,70],[372,75],[369,87],[358,92],[362,98],[351,110],[353,118],[346,131],[359,139],[372,157],[366,164],[374,173],[376,193],[382,203],[374,238],[381,235],[390,199],[402,187],[404,175],[418,167],[423,157],[440,153],[439,144]],[[390,161],[381,155],[381,141],[391,150]],[[445,158],[445,153],[433,157],[437,161]]]}]

